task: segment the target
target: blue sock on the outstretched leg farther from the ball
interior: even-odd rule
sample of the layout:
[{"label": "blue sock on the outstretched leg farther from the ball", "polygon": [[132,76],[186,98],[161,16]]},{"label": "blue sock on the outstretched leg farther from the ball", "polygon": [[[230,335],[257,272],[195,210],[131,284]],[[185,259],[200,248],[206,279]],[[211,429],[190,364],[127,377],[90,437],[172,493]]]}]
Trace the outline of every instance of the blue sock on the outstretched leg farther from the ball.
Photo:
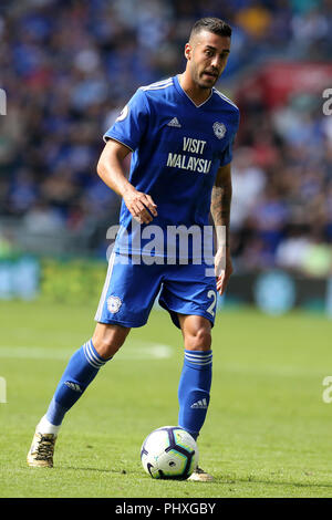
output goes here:
[{"label": "blue sock on the outstretched leg farther from the ball", "polygon": [[98,355],[90,340],[70,358],[46,412],[46,419],[61,425],[64,414],[76,403],[108,360]]}]

